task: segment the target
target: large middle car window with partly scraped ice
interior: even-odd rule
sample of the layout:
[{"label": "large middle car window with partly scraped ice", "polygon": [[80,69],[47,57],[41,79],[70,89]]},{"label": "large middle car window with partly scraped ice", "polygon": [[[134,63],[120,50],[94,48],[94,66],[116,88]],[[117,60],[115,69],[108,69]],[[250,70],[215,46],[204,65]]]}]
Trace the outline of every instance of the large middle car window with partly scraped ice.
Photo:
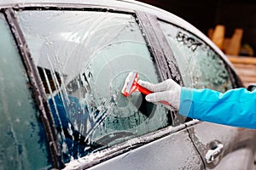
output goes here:
[{"label": "large middle car window with partly scraped ice", "polygon": [[143,33],[131,14],[94,11],[18,13],[66,161],[172,123],[162,105],[140,93],[125,98],[125,77],[137,71],[160,82]]}]

